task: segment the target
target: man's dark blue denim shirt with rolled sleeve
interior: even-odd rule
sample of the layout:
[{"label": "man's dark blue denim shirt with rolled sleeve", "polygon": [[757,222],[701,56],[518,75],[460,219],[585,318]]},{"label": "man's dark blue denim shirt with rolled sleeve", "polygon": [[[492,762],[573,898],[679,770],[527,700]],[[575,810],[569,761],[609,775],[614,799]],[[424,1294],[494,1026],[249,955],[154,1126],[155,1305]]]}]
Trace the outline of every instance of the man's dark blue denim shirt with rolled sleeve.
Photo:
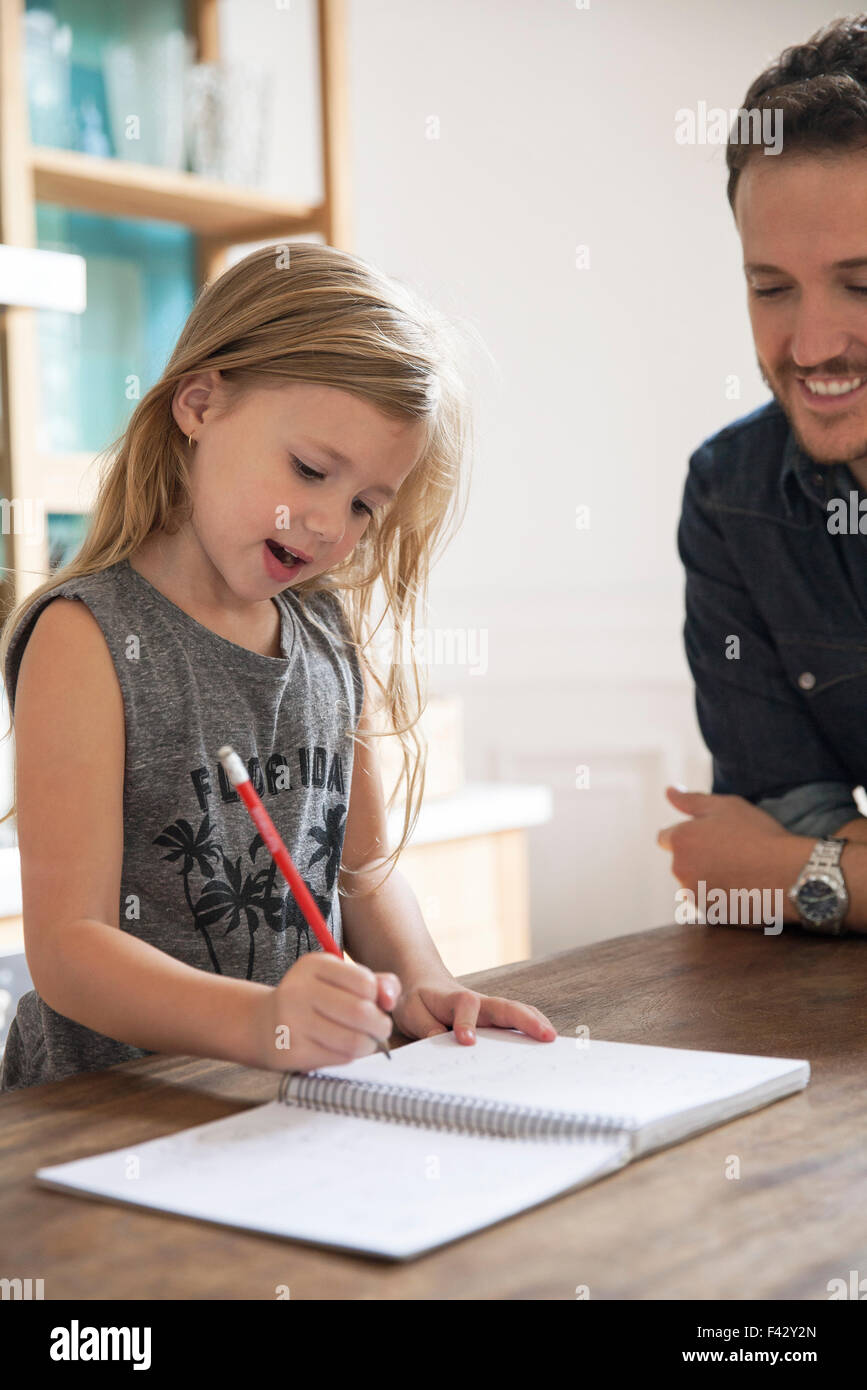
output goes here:
[{"label": "man's dark blue denim shirt with rolled sleeve", "polygon": [[713,790],[803,835],[856,817],[867,783],[867,535],[828,531],[850,492],[857,514],[849,468],[813,463],[771,400],[692,455],[678,530]]}]

